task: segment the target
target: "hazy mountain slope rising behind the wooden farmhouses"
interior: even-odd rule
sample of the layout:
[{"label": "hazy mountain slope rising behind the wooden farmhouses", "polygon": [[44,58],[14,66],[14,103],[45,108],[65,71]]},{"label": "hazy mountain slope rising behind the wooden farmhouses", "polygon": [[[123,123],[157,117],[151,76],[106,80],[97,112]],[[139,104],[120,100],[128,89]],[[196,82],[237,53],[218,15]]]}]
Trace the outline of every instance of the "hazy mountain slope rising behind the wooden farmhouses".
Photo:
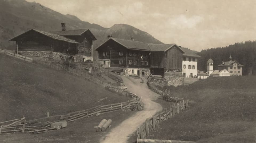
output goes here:
[{"label": "hazy mountain slope rising behind the wooden farmhouses", "polygon": [[29,29],[61,30],[62,22],[66,23],[66,29],[89,28],[98,39],[94,42],[94,47],[105,41],[109,34],[112,34],[115,38],[130,39],[133,36],[137,41],[162,43],[147,32],[130,25],[115,24],[110,28],[104,28],[97,24],[81,21],[76,16],[63,15],[39,3],[31,3],[25,0],[0,1],[0,21],[0,48],[13,44],[13,42],[8,41],[11,37]]}]

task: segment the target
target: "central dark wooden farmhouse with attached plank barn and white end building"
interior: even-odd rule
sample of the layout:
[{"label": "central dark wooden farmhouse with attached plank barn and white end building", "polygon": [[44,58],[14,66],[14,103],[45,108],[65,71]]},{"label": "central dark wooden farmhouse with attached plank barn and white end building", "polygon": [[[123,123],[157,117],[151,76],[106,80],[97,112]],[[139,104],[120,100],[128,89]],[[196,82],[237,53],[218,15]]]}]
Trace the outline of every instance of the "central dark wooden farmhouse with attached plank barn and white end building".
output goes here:
[{"label": "central dark wooden farmhouse with attached plank barn and white end building", "polygon": [[[193,51],[176,44],[150,44],[108,36],[98,46],[98,61],[103,67],[123,68],[129,75],[197,75],[197,58]],[[185,65],[185,66],[184,66]]]}]

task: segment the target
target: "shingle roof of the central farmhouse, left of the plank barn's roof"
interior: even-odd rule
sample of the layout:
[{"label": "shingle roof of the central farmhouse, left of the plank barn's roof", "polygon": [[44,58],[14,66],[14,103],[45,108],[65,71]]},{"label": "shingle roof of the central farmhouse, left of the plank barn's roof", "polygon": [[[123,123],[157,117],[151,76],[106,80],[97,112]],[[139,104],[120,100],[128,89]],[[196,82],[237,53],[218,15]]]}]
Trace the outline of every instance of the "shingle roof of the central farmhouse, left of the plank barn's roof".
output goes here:
[{"label": "shingle roof of the central farmhouse, left of the plank barn's roof", "polygon": [[118,38],[111,38],[111,39],[113,39],[114,41],[118,42],[119,44],[125,46],[128,49],[150,51],[150,48],[148,46],[148,44],[150,44],[150,43],[133,41],[133,40],[124,40],[124,39],[118,39]]}]

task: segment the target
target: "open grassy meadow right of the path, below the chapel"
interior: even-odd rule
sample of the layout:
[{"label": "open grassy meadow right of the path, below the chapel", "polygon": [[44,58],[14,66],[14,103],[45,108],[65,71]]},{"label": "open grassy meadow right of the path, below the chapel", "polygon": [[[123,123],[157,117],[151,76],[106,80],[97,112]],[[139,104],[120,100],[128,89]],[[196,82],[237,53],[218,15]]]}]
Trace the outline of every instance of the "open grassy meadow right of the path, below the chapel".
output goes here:
[{"label": "open grassy meadow right of the path, below the chapel", "polygon": [[[198,142],[255,142],[256,77],[215,77],[170,87],[189,110],[163,122],[151,138]],[[167,106],[168,107],[168,106]]]}]

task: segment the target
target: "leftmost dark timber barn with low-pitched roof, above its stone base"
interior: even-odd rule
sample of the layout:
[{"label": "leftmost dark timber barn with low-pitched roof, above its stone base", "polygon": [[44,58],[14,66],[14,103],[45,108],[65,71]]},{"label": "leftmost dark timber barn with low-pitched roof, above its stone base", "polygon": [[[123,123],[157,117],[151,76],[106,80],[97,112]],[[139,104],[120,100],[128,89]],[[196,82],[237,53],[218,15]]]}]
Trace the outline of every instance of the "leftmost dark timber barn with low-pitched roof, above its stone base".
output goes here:
[{"label": "leftmost dark timber barn with low-pitched roof, above its stone base", "polygon": [[49,51],[77,54],[77,46],[80,44],[75,40],[35,29],[11,38],[10,41],[16,41],[16,52]]}]

